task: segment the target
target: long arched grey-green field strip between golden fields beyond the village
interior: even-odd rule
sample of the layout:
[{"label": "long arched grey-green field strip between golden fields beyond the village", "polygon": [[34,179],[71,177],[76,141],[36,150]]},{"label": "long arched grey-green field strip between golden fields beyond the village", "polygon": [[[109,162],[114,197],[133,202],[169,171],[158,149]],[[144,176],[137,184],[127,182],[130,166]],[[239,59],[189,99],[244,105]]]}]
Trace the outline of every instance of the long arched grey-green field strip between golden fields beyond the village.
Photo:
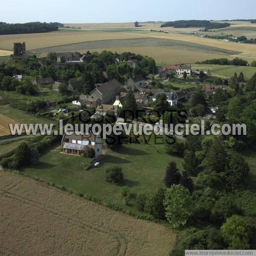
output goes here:
[{"label": "long arched grey-green field strip between golden fields beyond the village", "polygon": [[90,42],[81,42],[76,44],[59,45],[55,47],[46,47],[42,49],[34,49],[33,52],[65,52],[81,49],[102,49],[102,48],[120,48],[120,47],[166,47],[171,49],[182,49],[197,52],[207,52],[212,54],[234,55],[240,54],[227,49],[217,47],[209,47],[203,44],[190,43],[179,40],[162,39],[162,38],[133,38],[133,39],[114,39],[99,40]]}]

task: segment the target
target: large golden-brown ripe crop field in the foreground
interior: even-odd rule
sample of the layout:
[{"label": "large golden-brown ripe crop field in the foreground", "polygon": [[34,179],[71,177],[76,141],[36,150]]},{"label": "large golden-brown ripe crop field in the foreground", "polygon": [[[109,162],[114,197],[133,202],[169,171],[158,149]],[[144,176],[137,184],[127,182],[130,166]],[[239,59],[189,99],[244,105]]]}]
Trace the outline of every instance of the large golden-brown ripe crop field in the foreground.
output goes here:
[{"label": "large golden-brown ripe crop field in the foreground", "polygon": [[175,244],[162,225],[20,175],[0,172],[0,179],[0,248],[11,255],[169,255]]}]

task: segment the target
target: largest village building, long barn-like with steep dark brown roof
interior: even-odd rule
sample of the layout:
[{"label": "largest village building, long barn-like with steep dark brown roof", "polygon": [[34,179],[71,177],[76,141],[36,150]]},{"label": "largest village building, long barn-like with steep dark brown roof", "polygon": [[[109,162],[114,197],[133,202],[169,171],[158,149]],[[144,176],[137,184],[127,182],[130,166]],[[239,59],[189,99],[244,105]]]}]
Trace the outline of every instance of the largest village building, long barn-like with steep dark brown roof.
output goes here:
[{"label": "largest village building, long barn-like with steep dark brown roof", "polygon": [[90,96],[101,100],[102,104],[113,103],[116,99],[116,95],[120,95],[121,84],[116,79],[103,84],[102,86],[96,87],[91,91]]}]

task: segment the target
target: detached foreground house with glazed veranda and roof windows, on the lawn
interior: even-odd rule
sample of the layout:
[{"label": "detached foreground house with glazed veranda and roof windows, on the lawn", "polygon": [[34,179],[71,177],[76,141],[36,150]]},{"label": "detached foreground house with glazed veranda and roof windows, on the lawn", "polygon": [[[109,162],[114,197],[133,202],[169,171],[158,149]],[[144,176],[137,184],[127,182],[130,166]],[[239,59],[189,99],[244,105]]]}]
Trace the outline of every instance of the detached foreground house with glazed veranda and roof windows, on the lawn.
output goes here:
[{"label": "detached foreground house with glazed veranda and roof windows, on the lawn", "polygon": [[61,145],[65,154],[81,155],[89,148],[94,149],[96,157],[102,154],[102,138],[100,135],[94,135],[91,132],[82,135],[76,135],[74,131],[71,135],[64,134]]}]

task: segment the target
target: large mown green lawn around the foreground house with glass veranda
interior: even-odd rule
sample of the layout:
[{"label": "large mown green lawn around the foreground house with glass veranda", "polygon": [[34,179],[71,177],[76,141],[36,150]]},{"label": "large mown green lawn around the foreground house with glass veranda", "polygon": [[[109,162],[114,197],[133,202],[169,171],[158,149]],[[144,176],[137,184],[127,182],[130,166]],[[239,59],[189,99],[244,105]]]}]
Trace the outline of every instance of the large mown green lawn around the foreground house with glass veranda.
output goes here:
[{"label": "large mown green lawn around the foreground house with glass veranda", "polygon": [[[76,192],[82,192],[110,201],[125,209],[135,209],[134,206],[125,207],[120,194],[122,186],[129,186],[132,193],[151,191],[165,187],[163,178],[166,166],[170,161],[177,162],[181,169],[182,159],[166,154],[162,148],[149,145],[126,144],[119,153],[107,149],[107,157],[98,167],[85,170],[90,159],[61,154],[59,144],[53,146],[42,155],[38,166],[30,166],[23,172],[46,181],[66,186]],[[115,184],[105,181],[105,169],[118,165],[122,167],[125,181]],[[134,203],[134,202],[133,202]]]}]

